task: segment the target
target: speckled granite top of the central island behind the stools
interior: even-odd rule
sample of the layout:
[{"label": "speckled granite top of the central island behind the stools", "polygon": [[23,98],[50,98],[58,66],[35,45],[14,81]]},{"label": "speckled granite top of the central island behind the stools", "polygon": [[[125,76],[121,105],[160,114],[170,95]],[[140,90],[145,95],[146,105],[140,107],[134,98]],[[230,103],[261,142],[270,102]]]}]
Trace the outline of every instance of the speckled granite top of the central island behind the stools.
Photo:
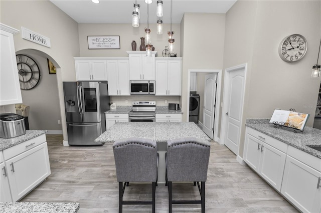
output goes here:
[{"label": "speckled granite top of the central island behind the stools", "polygon": [[211,141],[194,122],[116,122],[97,137],[95,142],[114,142],[128,137],[148,138],[157,142],[182,137]]}]

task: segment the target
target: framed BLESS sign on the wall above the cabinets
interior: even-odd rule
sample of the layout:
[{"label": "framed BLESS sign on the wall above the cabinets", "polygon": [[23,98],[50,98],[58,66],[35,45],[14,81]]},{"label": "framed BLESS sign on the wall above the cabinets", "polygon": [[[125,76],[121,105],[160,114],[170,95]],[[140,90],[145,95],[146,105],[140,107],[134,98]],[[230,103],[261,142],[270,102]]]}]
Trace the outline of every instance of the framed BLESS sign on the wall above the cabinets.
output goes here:
[{"label": "framed BLESS sign on the wall above the cabinets", "polygon": [[119,35],[87,36],[88,49],[120,49]]}]

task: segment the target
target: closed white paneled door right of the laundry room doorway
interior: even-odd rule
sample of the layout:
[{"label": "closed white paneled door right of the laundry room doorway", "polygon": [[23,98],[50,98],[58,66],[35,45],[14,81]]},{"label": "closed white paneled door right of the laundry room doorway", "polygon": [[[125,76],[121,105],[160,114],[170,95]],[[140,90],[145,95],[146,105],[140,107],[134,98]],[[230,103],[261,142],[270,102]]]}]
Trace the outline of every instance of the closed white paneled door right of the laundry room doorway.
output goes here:
[{"label": "closed white paneled door right of the laundry room doorway", "polygon": [[224,102],[225,111],[223,111],[223,116],[226,116],[224,144],[235,154],[238,154],[240,142],[245,84],[244,73],[244,66],[229,71],[227,85],[224,85],[224,89],[227,89],[227,94],[224,96],[226,98],[226,102]]}]

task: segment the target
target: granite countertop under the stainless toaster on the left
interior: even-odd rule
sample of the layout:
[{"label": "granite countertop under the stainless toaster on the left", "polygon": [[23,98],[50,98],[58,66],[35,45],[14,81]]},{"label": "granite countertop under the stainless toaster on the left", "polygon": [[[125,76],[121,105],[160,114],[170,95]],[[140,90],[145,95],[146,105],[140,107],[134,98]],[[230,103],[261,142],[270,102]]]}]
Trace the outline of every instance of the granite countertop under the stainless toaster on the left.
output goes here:
[{"label": "granite countertop under the stainless toaster on the left", "polygon": [[10,148],[19,143],[30,140],[39,135],[45,134],[47,130],[26,130],[26,134],[12,138],[0,138],[0,151]]}]

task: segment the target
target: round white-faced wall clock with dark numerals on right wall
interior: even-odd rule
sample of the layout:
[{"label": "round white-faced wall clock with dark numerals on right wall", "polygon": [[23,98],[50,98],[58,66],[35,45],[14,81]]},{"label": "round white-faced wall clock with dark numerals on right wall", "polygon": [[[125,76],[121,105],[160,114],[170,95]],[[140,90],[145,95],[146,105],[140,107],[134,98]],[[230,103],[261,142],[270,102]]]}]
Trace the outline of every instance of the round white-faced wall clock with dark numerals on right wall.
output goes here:
[{"label": "round white-faced wall clock with dark numerals on right wall", "polygon": [[294,62],[304,57],[306,49],[305,37],[300,34],[292,34],[281,41],[279,55],[286,62]]}]

